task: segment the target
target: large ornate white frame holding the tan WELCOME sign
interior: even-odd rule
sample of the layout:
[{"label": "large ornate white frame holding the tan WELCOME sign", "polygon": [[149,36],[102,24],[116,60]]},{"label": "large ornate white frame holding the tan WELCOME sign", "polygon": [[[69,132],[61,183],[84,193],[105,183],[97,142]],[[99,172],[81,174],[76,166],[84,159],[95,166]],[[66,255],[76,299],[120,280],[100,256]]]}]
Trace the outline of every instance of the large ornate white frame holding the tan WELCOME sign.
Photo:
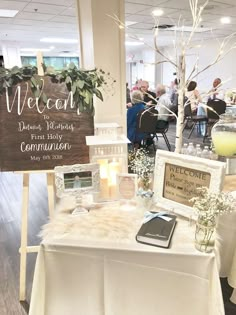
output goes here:
[{"label": "large ornate white frame holding the tan WELCOME sign", "polygon": [[211,192],[219,193],[223,187],[225,169],[226,164],[223,162],[157,150],[154,203],[158,207],[193,218],[195,212],[189,199],[196,196],[194,191],[197,187],[208,186]]}]

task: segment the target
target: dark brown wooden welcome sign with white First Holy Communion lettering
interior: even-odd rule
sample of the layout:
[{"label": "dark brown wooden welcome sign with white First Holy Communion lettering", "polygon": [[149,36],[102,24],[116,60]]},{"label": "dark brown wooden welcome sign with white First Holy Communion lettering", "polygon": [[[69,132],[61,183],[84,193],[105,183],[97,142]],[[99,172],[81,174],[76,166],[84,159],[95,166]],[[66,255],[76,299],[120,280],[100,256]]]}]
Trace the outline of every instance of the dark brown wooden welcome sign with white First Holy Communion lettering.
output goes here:
[{"label": "dark brown wooden welcome sign with white First Holy Communion lettering", "polygon": [[85,136],[93,135],[93,116],[77,114],[66,85],[43,77],[48,100],[38,103],[23,82],[0,97],[0,170],[50,170],[89,162]]}]

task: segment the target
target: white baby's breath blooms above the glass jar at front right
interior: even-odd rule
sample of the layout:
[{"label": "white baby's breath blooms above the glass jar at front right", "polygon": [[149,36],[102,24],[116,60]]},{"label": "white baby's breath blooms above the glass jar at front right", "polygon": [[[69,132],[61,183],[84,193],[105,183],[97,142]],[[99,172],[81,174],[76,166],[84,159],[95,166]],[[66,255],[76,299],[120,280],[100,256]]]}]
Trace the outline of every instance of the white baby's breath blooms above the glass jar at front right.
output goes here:
[{"label": "white baby's breath blooms above the glass jar at front right", "polygon": [[199,194],[190,199],[203,225],[215,224],[218,215],[235,210],[235,199],[230,193],[212,193],[207,187],[197,188]]}]

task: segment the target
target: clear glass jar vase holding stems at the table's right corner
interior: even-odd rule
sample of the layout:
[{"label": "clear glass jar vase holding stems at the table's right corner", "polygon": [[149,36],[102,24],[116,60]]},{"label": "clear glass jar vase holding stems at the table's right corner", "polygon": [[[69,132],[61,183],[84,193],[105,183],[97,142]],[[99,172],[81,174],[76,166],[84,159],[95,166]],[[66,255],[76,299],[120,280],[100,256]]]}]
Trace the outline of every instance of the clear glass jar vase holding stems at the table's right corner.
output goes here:
[{"label": "clear glass jar vase holding stems at the table's right corner", "polygon": [[201,252],[210,253],[215,246],[216,220],[199,215],[195,230],[195,248]]}]

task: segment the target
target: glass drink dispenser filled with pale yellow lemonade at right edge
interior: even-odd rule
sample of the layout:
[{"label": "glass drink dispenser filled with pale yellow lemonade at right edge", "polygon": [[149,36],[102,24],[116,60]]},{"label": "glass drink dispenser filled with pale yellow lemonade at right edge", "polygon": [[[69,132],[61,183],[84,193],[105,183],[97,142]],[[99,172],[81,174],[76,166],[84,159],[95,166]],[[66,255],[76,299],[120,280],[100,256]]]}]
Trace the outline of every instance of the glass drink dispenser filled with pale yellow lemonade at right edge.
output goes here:
[{"label": "glass drink dispenser filled with pale yellow lemonade at right edge", "polygon": [[212,142],[218,155],[236,156],[236,115],[222,114],[211,130]]}]

